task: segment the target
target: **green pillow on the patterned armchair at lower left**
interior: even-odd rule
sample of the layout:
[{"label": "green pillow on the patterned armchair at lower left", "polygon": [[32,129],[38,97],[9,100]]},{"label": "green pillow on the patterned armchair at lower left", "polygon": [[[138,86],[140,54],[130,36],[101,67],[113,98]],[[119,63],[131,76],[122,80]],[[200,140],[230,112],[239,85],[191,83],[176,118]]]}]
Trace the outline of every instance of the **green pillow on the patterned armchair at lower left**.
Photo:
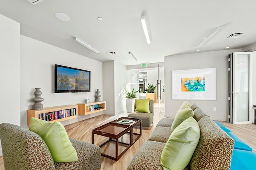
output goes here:
[{"label": "green pillow on the patterned armchair at lower left", "polygon": [[44,139],[55,162],[75,162],[78,160],[76,150],[69,140],[65,127],[60,122],[48,122],[31,117],[29,130]]}]

